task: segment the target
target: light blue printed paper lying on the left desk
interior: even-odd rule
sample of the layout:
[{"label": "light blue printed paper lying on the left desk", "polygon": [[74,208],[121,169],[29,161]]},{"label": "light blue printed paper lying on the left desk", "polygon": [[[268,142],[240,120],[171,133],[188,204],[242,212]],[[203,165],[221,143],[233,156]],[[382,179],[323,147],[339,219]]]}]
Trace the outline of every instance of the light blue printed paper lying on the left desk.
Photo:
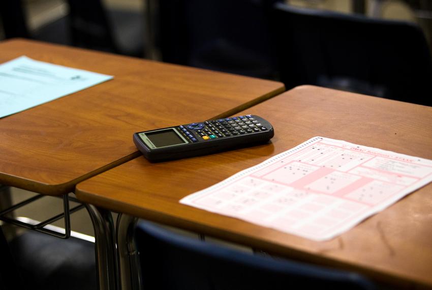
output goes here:
[{"label": "light blue printed paper lying on the left desk", "polygon": [[0,118],[113,78],[35,61],[27,56],[0,65]]}]

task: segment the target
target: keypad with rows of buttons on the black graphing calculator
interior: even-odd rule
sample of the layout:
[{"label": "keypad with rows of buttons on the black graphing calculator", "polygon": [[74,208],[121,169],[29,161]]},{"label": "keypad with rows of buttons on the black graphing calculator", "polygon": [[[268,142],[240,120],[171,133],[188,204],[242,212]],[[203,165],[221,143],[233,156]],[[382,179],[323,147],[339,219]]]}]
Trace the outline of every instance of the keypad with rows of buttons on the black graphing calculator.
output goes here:
[{"label": "keypad with rows of buttons on the black graphing calculator", "polygon": [[184,137],[192,142],[197,142],[198,139],[210,140],[267,130],[266,127],[258,123],[253,115],[191,123],[181,125],[178,129],[183,133]]}]

